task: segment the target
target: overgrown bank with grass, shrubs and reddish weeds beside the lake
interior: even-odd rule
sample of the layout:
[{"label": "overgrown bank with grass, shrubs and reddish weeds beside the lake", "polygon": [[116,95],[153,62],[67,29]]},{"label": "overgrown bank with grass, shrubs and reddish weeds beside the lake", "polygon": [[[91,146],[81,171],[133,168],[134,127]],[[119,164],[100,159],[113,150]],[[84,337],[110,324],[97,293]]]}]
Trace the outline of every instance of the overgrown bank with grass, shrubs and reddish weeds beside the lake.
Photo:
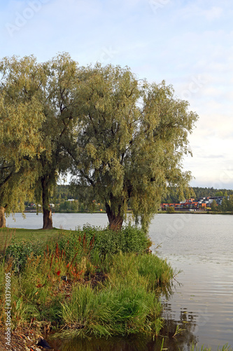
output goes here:
[{"label": "overgrown bank with grass, shrubs and reddish weeds beside the lake", "polygon": [[[28,239],[23,230],[17,234]],[[169,289],[174,271],[145,253],[150,244],[135,227],[118,234],[84,227],[2,245],[0,297],[5,305],[5,273],[10,273],[13,330],[30,325],[62,329],[64,337],[157,335],[159,291]],[[3,326],[3,310],[0,320]]]}]

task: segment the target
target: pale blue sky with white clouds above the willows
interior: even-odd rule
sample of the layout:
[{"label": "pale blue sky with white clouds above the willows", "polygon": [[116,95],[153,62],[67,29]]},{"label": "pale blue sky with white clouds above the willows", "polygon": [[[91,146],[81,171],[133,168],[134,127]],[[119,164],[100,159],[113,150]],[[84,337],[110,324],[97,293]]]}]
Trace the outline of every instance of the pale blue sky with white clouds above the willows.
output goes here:
[{"label": "pale blue sky with white clouds above the willows", "polygon": [[199,120],[190,185],[233,189],[232,0],[0,0],[0,58],[68,52],[174,86]]}]

